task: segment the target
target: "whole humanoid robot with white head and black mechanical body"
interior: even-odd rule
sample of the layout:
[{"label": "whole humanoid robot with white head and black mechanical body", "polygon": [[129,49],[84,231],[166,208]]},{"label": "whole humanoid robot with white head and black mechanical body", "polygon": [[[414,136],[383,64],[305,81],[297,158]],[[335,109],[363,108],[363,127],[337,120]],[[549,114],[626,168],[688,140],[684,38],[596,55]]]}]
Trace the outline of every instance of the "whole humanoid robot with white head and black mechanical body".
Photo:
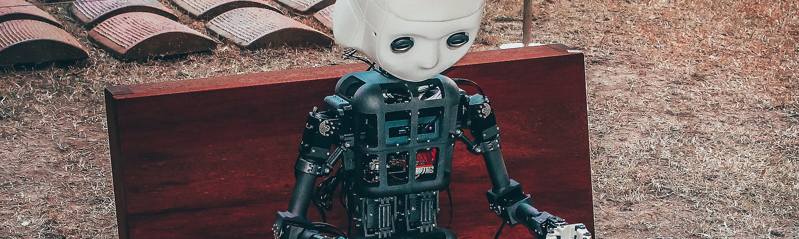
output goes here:
[{"label": "whole humanoid robot with white head and black mechanical body", "polygon": [[[456,80],[473,82],[439,74],[475,41],[483,1],[336,2],[336,42],[353,49],[348,57],[357,50],[375,62],[366,72],[342,77],[335,94],[324,99],[324,110],[309,114],[288,211],[277,213],[273,228],[276,239],[455,239],[437,226],[455,141],[483,155],[492,186],[488,202],[505,223],[525,225],[539,239],[590,239],[584,225],[535,209],[509,178],[499,127],[482,90],[469,96]],[[315,188],[316,179],[326,176]],[[341,204],[356,225],[351,235],[306,217],[314,202],[324,218],[339,184]]]}]

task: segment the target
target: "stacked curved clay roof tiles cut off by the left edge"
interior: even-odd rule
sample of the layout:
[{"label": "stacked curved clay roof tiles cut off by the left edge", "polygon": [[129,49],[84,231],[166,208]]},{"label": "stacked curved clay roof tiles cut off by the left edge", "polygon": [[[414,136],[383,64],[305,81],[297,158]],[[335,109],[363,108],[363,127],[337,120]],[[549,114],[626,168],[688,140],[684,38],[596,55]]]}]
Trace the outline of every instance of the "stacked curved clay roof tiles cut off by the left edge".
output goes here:
[{"label": "stacked curved clay roof tiles cut off by the left edge", "polygon": [[0,0],[0,64],[74,61],[89,56],[53,16],[24,0]]}]

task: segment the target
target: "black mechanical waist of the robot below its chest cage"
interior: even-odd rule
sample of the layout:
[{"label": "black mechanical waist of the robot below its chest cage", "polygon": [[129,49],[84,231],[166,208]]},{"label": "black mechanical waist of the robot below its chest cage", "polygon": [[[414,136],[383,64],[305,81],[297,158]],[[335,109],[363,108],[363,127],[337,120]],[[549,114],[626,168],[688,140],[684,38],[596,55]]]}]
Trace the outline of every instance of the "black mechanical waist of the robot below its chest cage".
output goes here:
[{"label": "black mechanical waist of the robot below its chest cage", "polygon": [[384,198],[359,198],[358,194],[353,197],[356,225],[369,239],[429,232],[439,214],[438,191]]}]

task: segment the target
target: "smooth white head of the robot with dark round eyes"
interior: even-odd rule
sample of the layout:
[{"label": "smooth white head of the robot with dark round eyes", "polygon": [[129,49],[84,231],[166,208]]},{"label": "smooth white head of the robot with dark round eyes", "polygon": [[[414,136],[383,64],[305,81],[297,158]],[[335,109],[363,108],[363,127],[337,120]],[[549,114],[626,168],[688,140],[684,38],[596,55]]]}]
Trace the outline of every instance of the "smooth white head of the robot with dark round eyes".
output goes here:
[{"label": "smooth white head of the robot with dark round eyes", "polygon": [[338,0],[333,35],[393,76],[427,80],[466,54],[484,6],[484,0]]}]

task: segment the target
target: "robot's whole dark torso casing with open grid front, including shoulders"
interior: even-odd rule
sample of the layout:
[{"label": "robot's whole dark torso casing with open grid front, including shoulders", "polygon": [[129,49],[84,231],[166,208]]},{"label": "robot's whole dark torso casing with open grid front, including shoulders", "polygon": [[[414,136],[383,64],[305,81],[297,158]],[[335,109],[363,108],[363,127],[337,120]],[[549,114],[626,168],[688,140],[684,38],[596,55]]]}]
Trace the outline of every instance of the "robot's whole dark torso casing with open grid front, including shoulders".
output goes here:
[{"label": "robot's whole dark torso casing with open grid front, including shoulders", "polygon": [[409,82],[363,72],[345,77],[337,91],[352,100],[356,194],[380,198],[446,189],[459,107],[449,78]]}]

